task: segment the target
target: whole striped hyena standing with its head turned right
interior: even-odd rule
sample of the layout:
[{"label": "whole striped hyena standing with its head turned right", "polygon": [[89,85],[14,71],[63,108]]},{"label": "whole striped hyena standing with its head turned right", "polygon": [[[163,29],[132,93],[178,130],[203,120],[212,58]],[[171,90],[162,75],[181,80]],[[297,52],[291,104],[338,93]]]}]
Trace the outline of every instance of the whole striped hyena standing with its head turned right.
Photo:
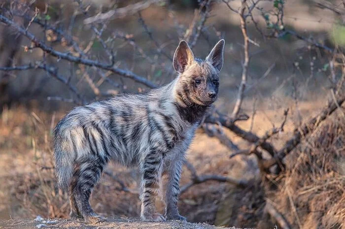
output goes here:
[{"label": "whole striped hyena standing with its head turned right", "polygon": [[[141,174],[141,219],[185,220],[177,210],[185,152],[217,98],[224,40],[205,60],[185,41],[173,57],[173,82],[138,95],[120,95],[72,109],[56,126],[53,147],[58,186],[69,190],[70,216],[96,223],[89,204],[105,164],[136,165]],[[155,210],[162,174],[168,175],[165,217]]]}]

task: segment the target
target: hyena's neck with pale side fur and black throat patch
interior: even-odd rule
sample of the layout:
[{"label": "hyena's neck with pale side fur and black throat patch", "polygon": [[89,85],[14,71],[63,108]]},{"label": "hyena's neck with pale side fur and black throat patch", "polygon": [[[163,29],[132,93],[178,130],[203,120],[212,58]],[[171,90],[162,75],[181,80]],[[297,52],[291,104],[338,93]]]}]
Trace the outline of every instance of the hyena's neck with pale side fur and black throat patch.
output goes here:
[{"label": "hyena's neck with pale side fur and black throat patch", "polygon": [[177,79],[172,82],[173,87],[173,104],[176,107],[181,119],[190,124],[199,124],[207,113],[209,106],[194,103],[186,98],[180,91],[181,88]]}]

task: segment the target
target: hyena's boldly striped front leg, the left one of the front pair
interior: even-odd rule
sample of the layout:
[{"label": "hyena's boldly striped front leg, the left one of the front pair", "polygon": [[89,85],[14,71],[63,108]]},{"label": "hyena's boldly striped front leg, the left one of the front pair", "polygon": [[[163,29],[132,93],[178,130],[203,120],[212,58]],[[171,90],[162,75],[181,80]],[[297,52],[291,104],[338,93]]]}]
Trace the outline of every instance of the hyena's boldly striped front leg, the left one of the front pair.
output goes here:
[{"label": "hyena's boldly striped front leg, the left one of the front pair", "polygon": [[155,200],[162,176],[163,156],[157,150],[150,150],[141,164],[141,215],[143,221],[165,221],[162,214],[156,212]]}]

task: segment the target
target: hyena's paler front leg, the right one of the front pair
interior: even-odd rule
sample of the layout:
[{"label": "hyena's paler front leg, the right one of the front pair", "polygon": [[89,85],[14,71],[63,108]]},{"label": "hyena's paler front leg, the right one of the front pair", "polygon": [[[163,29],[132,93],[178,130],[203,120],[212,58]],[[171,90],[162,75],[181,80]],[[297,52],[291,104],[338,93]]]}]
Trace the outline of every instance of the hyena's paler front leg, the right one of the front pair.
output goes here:
[{"label": "hyena's paler front leg, the right one of the front pair", "polygon": [[167,220],[186,221],[177,210],[177,201],[180,194],[179,181],[181,178],[182,160],[174,160],[168,168],[168,183],[166,192],[166,217]]}]

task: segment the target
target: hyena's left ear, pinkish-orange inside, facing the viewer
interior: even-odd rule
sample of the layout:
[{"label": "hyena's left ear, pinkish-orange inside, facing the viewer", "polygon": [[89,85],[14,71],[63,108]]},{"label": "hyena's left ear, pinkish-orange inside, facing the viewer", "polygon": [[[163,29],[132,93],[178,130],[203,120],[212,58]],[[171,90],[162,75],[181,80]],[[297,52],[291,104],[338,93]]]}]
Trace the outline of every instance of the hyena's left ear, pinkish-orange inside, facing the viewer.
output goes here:
[{"label": "hyena's left ear, pinkish-orange inside, facing the viewer", "polygon": [[188,65],[194,61],[194,55],[186,41],[182,40],[173,55],[173,68],[179,73],[183,73]]}]

